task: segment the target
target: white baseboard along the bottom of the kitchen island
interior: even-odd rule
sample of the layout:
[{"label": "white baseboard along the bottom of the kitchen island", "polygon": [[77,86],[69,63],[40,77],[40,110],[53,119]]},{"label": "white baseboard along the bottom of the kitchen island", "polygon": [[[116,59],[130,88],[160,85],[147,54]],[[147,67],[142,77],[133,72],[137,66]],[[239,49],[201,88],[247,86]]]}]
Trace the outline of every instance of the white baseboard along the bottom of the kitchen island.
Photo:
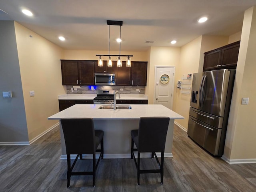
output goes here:
[{"label": "white baseboard along the bottom of the kitchen island", "polygon": [[[76,158],[76,154],[70,155],[71,159]],[[100,154],[96,154],[96,158],[99,158]],[[161,153],[157,152],[156,153],[157,157],[161,157]],[[135,157],[137,158],[137,154],[135,153]],[[146,157],[151,157],[151,153],[141,153],[140,155],[141,158],[146,158]],[[164,153],[164,157],[173,157],[172,153]],[[129,159],[131,158],[131,154],[104,154],[105,159]],[[67,155],[61,155],[60,159],[67,159]],[[83,154],[83,159],[92,159],[91,154]]]}]

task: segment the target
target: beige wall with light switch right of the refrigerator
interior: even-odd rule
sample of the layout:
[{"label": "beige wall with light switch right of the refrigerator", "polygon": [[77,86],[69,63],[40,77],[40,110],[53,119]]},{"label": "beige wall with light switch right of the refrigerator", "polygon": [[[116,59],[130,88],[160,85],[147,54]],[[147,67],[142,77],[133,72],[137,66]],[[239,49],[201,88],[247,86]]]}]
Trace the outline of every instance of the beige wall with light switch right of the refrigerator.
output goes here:
[{"label": "beige wall with light switch right of the refrigerator", "polygon": [[[256,159],[256,7],[245,11],[224,157]],[[241,105],[249,97],[248,105]]]}]

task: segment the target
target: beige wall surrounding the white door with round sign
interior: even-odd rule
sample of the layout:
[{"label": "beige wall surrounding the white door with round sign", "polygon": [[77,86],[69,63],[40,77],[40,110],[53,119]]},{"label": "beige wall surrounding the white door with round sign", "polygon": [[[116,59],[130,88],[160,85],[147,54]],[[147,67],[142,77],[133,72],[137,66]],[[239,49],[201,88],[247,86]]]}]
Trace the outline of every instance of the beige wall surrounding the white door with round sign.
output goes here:
[{"label": "beige wall surrounding the white door with round sign", "polygon": [[[177,70],[179,63],[180,63],[180,48],[177,48],[177,47],[151,47],[150,48],[150,61],[148,64],[148,78],[147,78],[147,88],[146,88],[146,94],[148,95],[148,104],[154,103],[155,66],[176,66],[176,70]],[[173,99],[173,103],[175,102],[175,99],[176,98]]]}]

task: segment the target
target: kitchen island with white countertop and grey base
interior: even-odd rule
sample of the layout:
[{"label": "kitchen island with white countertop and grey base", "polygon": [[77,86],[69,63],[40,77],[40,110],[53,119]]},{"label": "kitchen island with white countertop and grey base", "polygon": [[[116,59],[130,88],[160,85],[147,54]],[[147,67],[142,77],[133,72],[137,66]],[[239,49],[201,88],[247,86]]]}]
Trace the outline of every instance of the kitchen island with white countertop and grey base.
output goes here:
[{"label": "kitchen island with white countertop and grey base", "polygon": [[[48,117],[48,119],[60,120],[61,118],[93,118],[94,128],[104,131],[104,158],[130,158],[130,131],[138,129],[140,117],[168,116],[170,117],[170,123],[166,137],[164,156],[172,156],[174,119],[183,119],[184,117],[162,105],[133,104],[130,105],[132,109],[118,110],[99,109],[100,106],[102,105],[76,104]],[[66,158],[66,147],[61,123],[60,135],[62,147],[61,158]]]}]

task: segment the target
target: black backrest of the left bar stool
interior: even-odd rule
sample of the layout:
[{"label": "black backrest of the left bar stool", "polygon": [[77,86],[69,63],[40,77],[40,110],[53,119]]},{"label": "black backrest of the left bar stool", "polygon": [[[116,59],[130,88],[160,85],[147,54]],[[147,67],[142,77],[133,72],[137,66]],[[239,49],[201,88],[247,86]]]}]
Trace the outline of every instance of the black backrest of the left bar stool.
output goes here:
[{"label": "black backrest of the left bar stool", "polygon": [[92,118],[62,118],[67,154],[92,154],[96,152]]}]

